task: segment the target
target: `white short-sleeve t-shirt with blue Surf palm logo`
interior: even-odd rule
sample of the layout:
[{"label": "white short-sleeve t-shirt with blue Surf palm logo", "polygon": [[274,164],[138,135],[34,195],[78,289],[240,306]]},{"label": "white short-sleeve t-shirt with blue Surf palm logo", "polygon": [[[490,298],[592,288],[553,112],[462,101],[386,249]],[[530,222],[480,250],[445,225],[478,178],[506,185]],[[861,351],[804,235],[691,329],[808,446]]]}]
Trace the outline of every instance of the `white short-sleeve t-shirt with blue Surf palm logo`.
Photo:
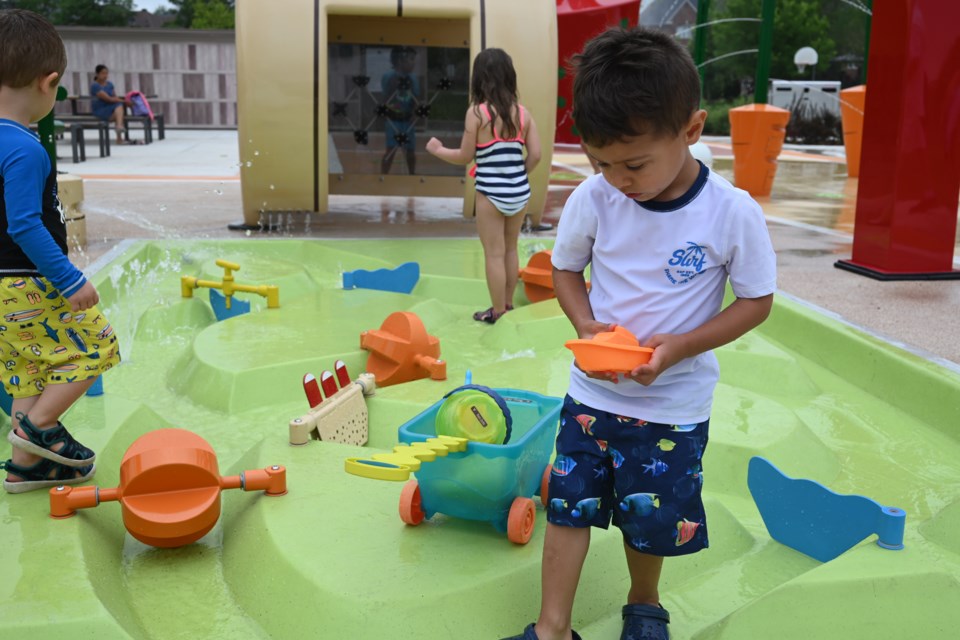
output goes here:
[{"label": "white short-sleeve t-shirt with blue Surf palm logo", "polygon": [[[658,333],[691,331],[720,312],[727,279],[738,298],[776,290],[776,256],[760,206],[701,165],[686,194],[638,203],[602,175],[567,200],[553,266],[590,269],[594,317],[629,329],[643,344]],[[681,360],[650,386],[614,384],[571,366],[570,395],[593,408],[648,422],[709,418],[720,367],[712,351]]]}]

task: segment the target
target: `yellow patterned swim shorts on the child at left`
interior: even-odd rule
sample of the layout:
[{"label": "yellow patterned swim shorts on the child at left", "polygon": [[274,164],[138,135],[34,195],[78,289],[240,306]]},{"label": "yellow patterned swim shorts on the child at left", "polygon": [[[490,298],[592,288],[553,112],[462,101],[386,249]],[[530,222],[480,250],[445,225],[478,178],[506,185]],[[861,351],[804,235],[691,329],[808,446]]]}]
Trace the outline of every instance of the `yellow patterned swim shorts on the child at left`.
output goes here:
[{"label": "yellow patterned swim shorts on the child at left", "polygon": [[14,398],[95,378],[120,363],[113,327],[96,307],[74,314],[46,278],[0,278],[0,370]]}]

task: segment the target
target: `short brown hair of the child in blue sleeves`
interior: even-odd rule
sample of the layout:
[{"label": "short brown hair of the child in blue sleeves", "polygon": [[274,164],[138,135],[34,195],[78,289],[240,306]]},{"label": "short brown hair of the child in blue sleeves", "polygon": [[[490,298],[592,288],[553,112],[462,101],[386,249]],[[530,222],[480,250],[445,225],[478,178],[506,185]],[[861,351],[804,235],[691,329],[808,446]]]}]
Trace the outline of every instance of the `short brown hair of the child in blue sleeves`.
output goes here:
[{"label": "short brown hair of the child in blue sleeves", "polygon": [[0,10],[0,85],[19,89],[53,73],[63,79],[67,52],[46,19],[24,9]]}]

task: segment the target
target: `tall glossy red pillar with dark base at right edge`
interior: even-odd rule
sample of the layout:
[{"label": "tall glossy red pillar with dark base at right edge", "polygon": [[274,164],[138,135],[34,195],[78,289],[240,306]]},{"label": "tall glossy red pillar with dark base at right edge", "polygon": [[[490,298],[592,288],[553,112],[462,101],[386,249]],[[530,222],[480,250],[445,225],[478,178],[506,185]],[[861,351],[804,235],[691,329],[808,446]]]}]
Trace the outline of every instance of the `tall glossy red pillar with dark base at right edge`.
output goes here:
[{"label": "tall glossy red pillar with dark base at right edge", "polygon": [[960,5],[874,4],[853,256],[835,266],[877,280],[960,278]]}]

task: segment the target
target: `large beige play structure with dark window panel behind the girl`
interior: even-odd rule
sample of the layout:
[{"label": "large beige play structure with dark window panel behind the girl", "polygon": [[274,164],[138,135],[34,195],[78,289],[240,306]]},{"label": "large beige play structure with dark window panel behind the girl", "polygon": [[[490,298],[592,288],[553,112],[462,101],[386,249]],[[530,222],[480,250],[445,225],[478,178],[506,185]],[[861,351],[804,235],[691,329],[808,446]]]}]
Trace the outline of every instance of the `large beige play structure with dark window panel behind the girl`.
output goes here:
[{"label": "large beige play structure with dark window panel behind the girl", "polygon": [[[459,144],[471,62],[490,47],[510,52],[523,105],[541,131],[553,131],[556,25],[556,0],[237,3],[237,77],[259,81],[238,88],[244,219],[231,228],[261,228],[278,212],[325,213],[330,194],[463,197],[463,215],[472,217],[466,169],[423,145],[433,135]],[[412,52],[414,79],[396,90],[384,82],[394,47]],[[397,92],[409,106],[401,120],[392,109]],[[530,176],[534,224],[551,156],[545,145]]]}]

